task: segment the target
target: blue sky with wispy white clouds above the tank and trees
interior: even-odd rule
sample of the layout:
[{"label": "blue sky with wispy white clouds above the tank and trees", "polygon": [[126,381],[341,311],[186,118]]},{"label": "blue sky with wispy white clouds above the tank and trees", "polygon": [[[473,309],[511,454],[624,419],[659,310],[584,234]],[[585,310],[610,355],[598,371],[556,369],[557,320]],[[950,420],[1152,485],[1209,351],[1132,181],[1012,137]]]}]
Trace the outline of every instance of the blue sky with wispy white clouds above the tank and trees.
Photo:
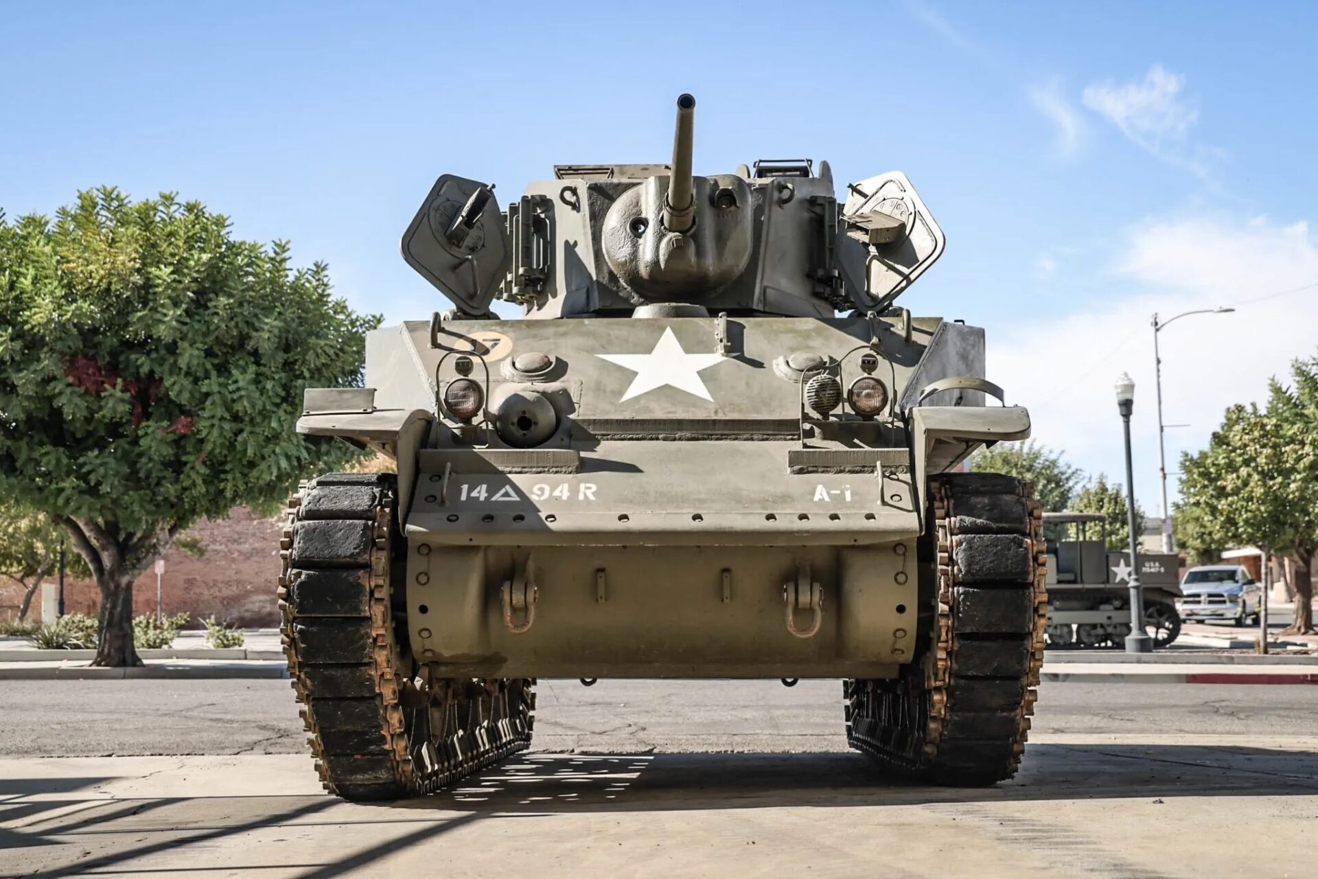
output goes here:
[{"label": "blue sky with wispy white clouds above the tank and trees", "polygon": [[1226,406],[1318,353],[1318,5],[1273,3],[12,4],[0,208],[175,191],[328,262],[389,323],[447,302],[398,256],[439,174],[517,195],[555,163],[903,170],[948,249],[902,299],[988,337],[1035,436],[1157,510]]}]

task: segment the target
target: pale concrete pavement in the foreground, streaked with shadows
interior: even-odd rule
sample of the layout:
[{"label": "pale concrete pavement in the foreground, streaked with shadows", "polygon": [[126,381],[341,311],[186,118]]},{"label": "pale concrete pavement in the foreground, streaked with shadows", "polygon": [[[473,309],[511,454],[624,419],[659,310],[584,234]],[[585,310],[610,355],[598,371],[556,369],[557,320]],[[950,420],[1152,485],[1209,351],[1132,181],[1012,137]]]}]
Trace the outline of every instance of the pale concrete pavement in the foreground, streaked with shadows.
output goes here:
[{"label": "pale concrete pavement in the foreground, streaked with shadows", "polygon": [[1053,739],[977,791],[849,754],[531,755],[390,805],[290,755],[17,760],[0,875],[1304,876],[1315,745]]}]

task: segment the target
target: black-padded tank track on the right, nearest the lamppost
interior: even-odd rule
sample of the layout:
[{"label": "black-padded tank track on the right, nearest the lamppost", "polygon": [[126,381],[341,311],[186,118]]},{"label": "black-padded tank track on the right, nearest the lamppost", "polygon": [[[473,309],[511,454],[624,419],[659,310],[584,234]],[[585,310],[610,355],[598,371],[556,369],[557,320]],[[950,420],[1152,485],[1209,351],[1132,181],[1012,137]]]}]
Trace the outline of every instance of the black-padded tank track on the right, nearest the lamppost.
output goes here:
[{"label": "black-padded tank track on the right, nearest the lamppost", "polygon": [[1025,750],[1048,619],[1032,486],[988,473],[933,477],[919,557],[932,580],[921,581],[929,638],[900,677],[845,681],[847,743],[915,780],[1008,779]]}]

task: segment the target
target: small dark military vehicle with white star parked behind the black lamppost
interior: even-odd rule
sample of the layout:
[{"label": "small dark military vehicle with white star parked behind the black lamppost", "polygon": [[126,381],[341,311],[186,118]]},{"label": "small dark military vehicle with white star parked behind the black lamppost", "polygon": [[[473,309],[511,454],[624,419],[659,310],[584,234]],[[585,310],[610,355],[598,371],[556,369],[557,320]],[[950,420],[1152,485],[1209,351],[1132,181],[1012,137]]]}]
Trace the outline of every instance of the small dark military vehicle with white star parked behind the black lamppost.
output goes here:
[{"label": "small dark military vehicle with white star parked behind the black lamppost", "polygon": [[1049,647],[1123,647],[1131,634],[1131,576],[1144,597],[1144,630],[1153,647],[1168,647],[1181,634],[1181,598],[1174,552],[1130,553],[1107,548],[1106,517],[1099,513],[1045,513],[1048,553]]}]

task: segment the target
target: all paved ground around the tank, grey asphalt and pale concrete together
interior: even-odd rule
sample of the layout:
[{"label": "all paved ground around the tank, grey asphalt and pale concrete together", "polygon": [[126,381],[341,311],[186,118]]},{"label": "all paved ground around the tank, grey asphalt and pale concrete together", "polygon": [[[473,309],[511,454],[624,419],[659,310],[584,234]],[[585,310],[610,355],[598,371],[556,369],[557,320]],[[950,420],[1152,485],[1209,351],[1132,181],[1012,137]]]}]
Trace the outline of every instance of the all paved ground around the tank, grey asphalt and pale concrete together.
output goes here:
[{"label": "all paved ground around the tank, grey asphalt and pale concrete together", "polygon": [[286,681],[7,683],[7,754],[169,756],[0,759],[0,876],[1314,875],[1318,687],[1045,684],[1020,775],[970,791],[844,752],[838,689],[546,681],[560,752],[355,805]]}]

